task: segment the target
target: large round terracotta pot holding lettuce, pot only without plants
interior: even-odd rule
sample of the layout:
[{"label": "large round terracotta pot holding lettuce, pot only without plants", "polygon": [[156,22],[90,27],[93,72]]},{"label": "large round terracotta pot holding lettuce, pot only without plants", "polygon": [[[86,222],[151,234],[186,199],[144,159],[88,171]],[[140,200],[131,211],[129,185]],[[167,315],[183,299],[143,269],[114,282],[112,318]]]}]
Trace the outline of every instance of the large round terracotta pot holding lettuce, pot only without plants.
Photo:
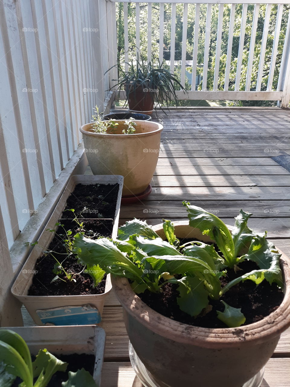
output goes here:
[{"label": "large round terracotta pot holding lettuce, pot only without plants", "polygon": [[[179,238],[208,237],[174,222]],[[162,225],[155,231],[165,238]],[[285,298],[268,317],[239,328],[208,329],[182,324],[149,308],[125,278],[113,278],[136,354],[160,387],[241,387],[267,363],[290,325],[290,261],[282,254]]]}]

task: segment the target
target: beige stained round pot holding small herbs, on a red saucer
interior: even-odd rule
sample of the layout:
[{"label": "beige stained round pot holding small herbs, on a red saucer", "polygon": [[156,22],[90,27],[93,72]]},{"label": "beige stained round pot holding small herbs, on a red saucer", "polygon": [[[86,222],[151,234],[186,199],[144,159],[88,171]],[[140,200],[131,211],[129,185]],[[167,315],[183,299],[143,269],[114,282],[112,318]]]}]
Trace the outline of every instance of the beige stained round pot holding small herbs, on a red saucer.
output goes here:
[{"label": "beige stained round pot holding small herbs, on a red saucer", "polygon": [[114,134],[92,132],[92,124],[80,127],[85,152],[94,175],[124,176],[123,196],[146,190],[154,174],[163,126],[151,121],[135,121],[134,134],[122,134],[124,120],[117,121]]}]

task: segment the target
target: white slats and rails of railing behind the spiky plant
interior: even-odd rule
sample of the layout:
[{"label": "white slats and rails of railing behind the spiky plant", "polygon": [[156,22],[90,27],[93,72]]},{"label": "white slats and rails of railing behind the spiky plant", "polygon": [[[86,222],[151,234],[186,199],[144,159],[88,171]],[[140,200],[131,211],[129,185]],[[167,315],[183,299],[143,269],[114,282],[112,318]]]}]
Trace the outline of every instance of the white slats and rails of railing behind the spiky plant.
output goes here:
[{"label": "white slats and rails of railing behind the spiky plant", "polygon": [[[273,78],[276,67],[276,59],[278,53],[278,44],[281,45],[281,20],[283,15],[283,10],[285,5],[288,5],[289,2],[281,1],[262,1],[262,2],[249,2],[245,0],[208,0],[208,1],[189,1],[185,0],[182,2],[167,2],[161,0],[159,2],[147,1],[143,2],[141,0],[131,1],[108,1],[107,9],[110,13],[115,13],[116,3],[123,3],[123,17],[124,17],[124,59],[125,62],[128,62],[132,56],[135,56],[135,51],[140,50],[140,3],[147,4],[147,58],[151,59],[152,55],[152,3],[154,3],[157,8],[159,4],[159,60],[162,62],[164,57],[163,43],[164,43],[164,3],[171,5],[171,38],[170,38],[170,60],[169,67],[171,72],[174,71],[175,67],[175,43],[176,43],[176,5],[183,4],[183,31],[182,31],[182,53],[181,53],[181,84],[184,86],[185,76],[186,76],[186,54],[187,54],[187,45],[186,40],[188,38],[188,7],[189,4],[195,4],[195,16],[194,16],[194,31],[193,31],[193,55],[192,55],[192,80],[191,80],[191,89],[187,94],[184,94],[183,91],[177,91],[176,95],[178,99],[216,99],[216,100],[276,100],[278,101],[278,106],[287,107],[290,101],[290,11],[288,15],[287,30],[285,34],[285,39],[283,41],[283,53],[281,58],[281,65],[279,71],[278,82],[275,82],[273,87]],[[135,4],[135,23],[136,23],[136,36],[135,36],[135,49],[134,52],[129,53],[129,35],[128,35],[128,3]],[[203,55],[203,72],[202,72],[202,86],[198,89],[196,88],[195,79],[197,74],[198,67],[198,45],[200,45],[200,9],[201,5],[206,5],[206,31],[204,36],[204,55]],[[208,71],[210,69],[208,63],[208,55],[210,50],[210,31],[211,31],[211,19],[212,19],[212,7],[213,5],[218,6],[218,25],[217,25],[217,34],[216,34],[216,48],[215,48],[215,65],[214,65],[214,74],[213,74],[213,87],[208,87]],[[228,42],[227,42],[227,60],[225,65],[225,79],[223,87],[218,86],[219,74],[220,74],[220,53],[221,53],[221,43],[222,43],[222,32],[223,32],[223,12],[225,4],[230,5],[230,19],[228,26]],[[235,12],[237,5],[242,5],[242,15],[241,15],[241,27],[239,31],[239,49],[237,54],[237,65],[235,72],[234,85],[231,82],[232,89],[229,89],[230,81],[230,69],[232,67],[232,45],[233,45],[233,33],[234,33],[234,24],[235,24]],[[251,21],[251,38],[249,42],[248,58],[246,64],[246,79],[244,79],[245,86],[241,87],[242,73],[244,74],[244,53],[245,53],[245,38],[246,38],[246,27],[247,25],[247,11],[249,4],[254,4],[254,10],[252,13]],[[258,17],[260,6],[264,5],[266,7],[265,15],[263,18],[263,34],[261,38],[261,50],[259,52],[259,65],[258,72],[255,75],[256,84],[253,87],[253,60],[254,54],[257,55],[255,51],[256,42],[256,33],[258,26]],[[273,19],[271,14],[273,8],[275,10],[275,32],[273,36],[273,45],[271,49],[271,61],[268,75],[268,82],[264,89],[261,88],[263,80],[263,72],[265,70],[265,54],[266,47],[269,45],[269,22],[270,17]],[[109,14],[110,22],[112,20],[111,14]],[[272,21],[273,23],[273,21]],[[130,37],[132,38],[132,37]],[[280,39],[280,40],[279,40]],[[110,50],[115,50],[117,47],[117,32],[114,29],[114,33],[110,36],[110,42],[113,41],[113,44],[110,43]],[[271,42],[270,42],[271,43]],[[272,43],[271,43],[272,44]],[[114,47],[114,48],[113,48]],[[132,48],[132,43],[131,43]],[[117,63],[117,53],[109,53],[109,67],[112,67]],[[125,70],[128,70],[128,65],[125,65]],[[212,70],[212,69],[211,69]],[[244,76],[244,75],[243,75]],[[110,75],[109,84],[112,87],[116,82],[113,79],[117,78],[116,69],[112,70]],[[125,99],[125,92],[120,92],[115,98]]]}]

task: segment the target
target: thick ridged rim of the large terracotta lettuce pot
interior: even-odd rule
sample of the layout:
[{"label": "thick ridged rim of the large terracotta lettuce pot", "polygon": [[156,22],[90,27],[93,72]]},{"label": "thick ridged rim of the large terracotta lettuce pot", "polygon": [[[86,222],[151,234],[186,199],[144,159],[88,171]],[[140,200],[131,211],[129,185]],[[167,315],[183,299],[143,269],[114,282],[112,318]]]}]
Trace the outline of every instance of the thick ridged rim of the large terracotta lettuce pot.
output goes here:
[{"label": "thick ridged rim of the large terracotta lettuce pot", "polygon": [[[189,225],[189,221],[173,222],[177,225]],[[231,226],[227,226],[230,229]],[[154,226],[155,231],[162,225]],[[278,249],[277,249],[278,250]],[[148,307],[131,289],[128,279],[112,276],[112,284],[123,308],[148,329],[160,336],[205,348],[239,347],[241,344],[259,344],[265,339],[280,336],[290,326],[290,262],[281,251],[280,264],[285,281],[285,296],[281,305],[270,315],[253,324],[237,328],[201,328],[169,319]]]}]

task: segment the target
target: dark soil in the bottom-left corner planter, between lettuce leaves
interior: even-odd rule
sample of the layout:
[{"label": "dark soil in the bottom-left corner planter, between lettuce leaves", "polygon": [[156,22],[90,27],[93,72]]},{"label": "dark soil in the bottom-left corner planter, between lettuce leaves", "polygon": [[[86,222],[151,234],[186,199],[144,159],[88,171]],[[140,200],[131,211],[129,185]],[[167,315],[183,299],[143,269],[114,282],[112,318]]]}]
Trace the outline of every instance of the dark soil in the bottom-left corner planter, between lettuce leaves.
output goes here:
[{"label": "dark soil in the bottom-left corner planter, between lettuce leaves", "polygon": [[[71,355],[58,355],[58,354],[54,354],[54,355],[59,360],[65,361],[66,363],[68,363],[68,366],[67,366],[66,372],[61,372],[61,371],[56,372],[51,378],[47,387],[61,387],[61,383],[68,380],[68,372],[70,371],[77,372],[77,370],[84,368],[91,375],[93,375],[94,373],[96,356],[94,356],[93,354],[89,355],[86,353],[82,353],[82,354],[74,353]],[[32,361],[34,360],[35,360],[35,356],[32,356]],[[19,383],[21,383],[21,379],[17,378],[15,379],[11,387],[18,387]]]}]

